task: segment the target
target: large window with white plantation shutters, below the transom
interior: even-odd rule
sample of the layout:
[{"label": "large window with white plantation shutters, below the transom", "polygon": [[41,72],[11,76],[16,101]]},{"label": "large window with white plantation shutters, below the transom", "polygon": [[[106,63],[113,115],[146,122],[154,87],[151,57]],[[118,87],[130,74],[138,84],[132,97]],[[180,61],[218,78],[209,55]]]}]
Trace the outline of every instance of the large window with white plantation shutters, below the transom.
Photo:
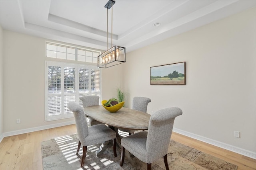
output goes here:
[{"label": "large window with white plantation shutters, below the transom", "polygon": [[73,117],[69,102],[86,95],[100,96],[100,69],[96,66],[46,61],[45,120]]}]

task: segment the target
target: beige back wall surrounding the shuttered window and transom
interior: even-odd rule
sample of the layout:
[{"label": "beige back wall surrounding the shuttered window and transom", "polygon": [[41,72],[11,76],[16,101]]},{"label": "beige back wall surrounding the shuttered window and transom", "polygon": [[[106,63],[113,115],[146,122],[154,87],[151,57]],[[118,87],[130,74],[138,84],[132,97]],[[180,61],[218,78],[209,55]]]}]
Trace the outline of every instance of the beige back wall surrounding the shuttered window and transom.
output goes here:
[{"label": "beige back wall surrounding the shuttered window and transom", "polygon": [[[44,63],[47,39],[4,30],[4,132],[73,121],[73,118],[44,122]],[[51,40],[50,40],[51,41]],[[74,62],[79,63],[79,62]],[[82,63],[83,64],[83,63]],[[108,79],[108,72],[113,78]],[[122,72],[103,69],[102,98],[116,93],[116,80]],[[115,78],[114,78],[115,77]],[[122,81],[122,80],[120,80]],[[120,84],[120,83],[118,83]],[[113,96],[114,97],[114,96]],[[16,119],[21,123],[16,123]]]}]

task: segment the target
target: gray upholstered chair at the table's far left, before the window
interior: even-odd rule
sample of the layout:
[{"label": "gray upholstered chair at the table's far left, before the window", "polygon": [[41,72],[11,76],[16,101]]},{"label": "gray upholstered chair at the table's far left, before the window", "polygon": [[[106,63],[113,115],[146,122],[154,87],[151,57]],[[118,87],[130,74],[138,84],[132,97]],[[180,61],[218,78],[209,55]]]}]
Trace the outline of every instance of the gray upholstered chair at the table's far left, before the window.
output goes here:
[{"label": "gray upholstered chair at the table's far left, before the window", "polygon": [[[99,96],[83,96],[80,98],[83,102],[83,107],[96,106],[100,105],[100,97]],[[86,115],[86,121],[89,126],[104,124],[102,122],[96,121],[92,119],[92,117]]]}]

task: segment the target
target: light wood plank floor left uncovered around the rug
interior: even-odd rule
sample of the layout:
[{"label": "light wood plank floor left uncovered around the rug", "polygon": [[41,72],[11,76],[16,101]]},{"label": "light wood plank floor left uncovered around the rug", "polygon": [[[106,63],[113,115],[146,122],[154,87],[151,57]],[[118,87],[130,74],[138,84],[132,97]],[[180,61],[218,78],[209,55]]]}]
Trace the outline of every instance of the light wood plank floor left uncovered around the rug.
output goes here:
[{"label": "light wood plank floor left uncovered around the rug", "polygon": [[[42,170],[41,142],[76,133],[76,125],[68,125],[4,137],[0,143],[0,170]],[[172,139],[238,165],[238,170],[256,170],[256,160],[212,145],[172,133]]]}]

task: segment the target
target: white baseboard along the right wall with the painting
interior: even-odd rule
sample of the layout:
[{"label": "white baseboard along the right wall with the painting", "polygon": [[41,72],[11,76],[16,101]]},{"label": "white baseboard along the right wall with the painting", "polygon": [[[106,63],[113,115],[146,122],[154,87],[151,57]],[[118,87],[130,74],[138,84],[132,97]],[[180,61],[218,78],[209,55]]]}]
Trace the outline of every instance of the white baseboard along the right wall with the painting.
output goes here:
[{"label": "white baseboard along the right wall with the painting", "polygon": [[238,154],[256,159],[256,152],[252,152],[250,150],[245,150],[245,149],[238,148],[238,147],[235,147],[235,146],[232,146],[232,145],[228,145],[226,143],[222,143],[220,141],[215,141],[215,140],[212,140],[212,139],[200,136],[200,135],[196,135],[194,133],[190,133],[190,132],[187,132],[187,131],[180,130],[180,129],[173,128],[173,131],[176,132],[176,133],[179,133],[181,135],[191,137],[191,138],[196,139],[198,141],[209,143],[209,144],[214,145],[216,147],[220,147],[222,149],[230,150],[232,152],[235,152],[235,153],[238,153]]}]

